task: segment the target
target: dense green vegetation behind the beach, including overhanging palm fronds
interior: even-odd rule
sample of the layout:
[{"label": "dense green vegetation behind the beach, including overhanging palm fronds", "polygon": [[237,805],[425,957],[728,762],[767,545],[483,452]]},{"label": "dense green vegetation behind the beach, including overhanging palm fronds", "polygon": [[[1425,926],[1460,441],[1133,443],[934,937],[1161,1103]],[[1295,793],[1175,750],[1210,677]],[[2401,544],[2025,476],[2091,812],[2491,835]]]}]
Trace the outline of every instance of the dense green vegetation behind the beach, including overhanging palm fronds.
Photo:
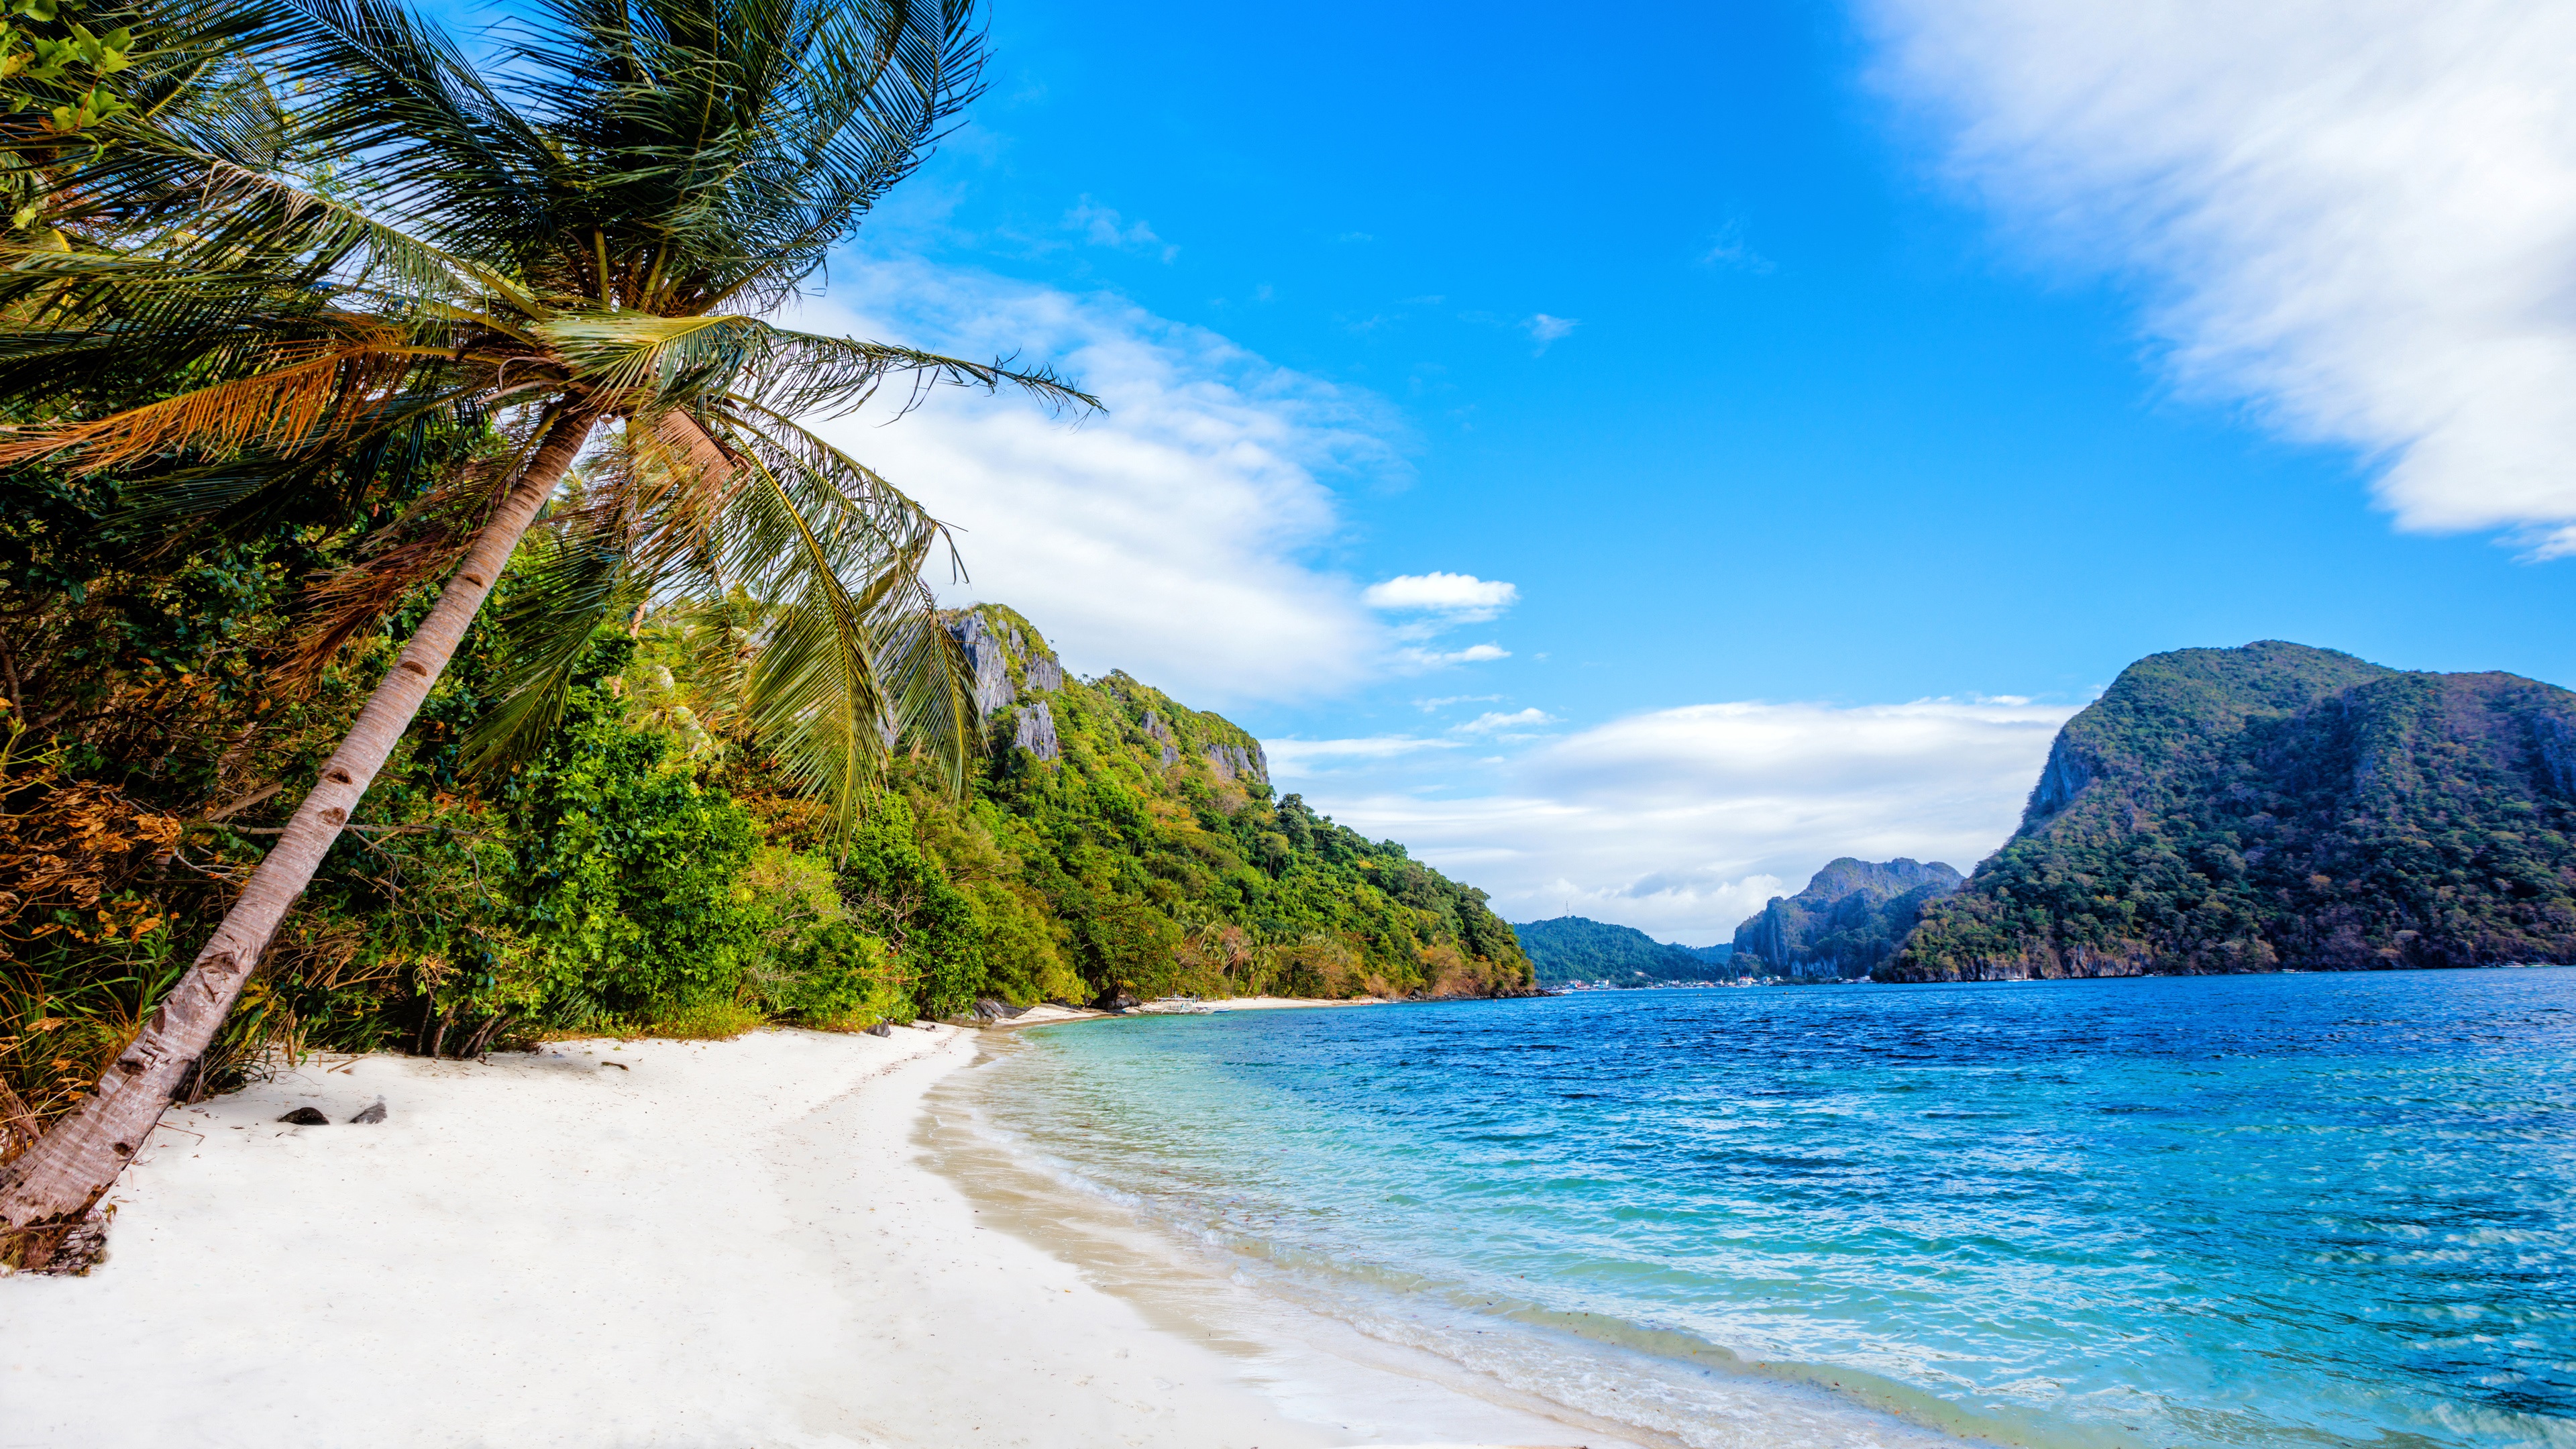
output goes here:
[{"label": "dense green vegetation behind the beach, including overhanging palm fronds", "polygon": [[757,317],[971,101],[971,5],[564,0],[523,93],[379,0],[21,15],[0,1158],[204,969],[446,616],[178,1091],[979,995],[1528,987],[1479,892],[1275,799],[1231,724],[1066,681],[1025,619],[974,616],[1025,704],[966,709],[969,619],[920,585],[945,534],[791,423],[886,376],[1092,402]]}]

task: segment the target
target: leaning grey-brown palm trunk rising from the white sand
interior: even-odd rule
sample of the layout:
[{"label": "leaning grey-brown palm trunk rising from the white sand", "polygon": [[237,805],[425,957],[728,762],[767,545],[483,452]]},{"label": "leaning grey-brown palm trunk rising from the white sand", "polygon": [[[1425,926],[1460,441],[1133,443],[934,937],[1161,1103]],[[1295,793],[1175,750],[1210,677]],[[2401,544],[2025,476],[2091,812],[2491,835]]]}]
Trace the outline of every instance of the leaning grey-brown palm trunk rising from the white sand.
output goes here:
[{"label": "leaning grey-brown palm trunk rising from the white sand", "polygon": [[85,1214],[142,1147],[162,1109],[170,1106],[180,1078],[214,1044],[232,1000],[242,995],[242,982],[268,951],[268,938],[304,895],[304,884],[322,866],[332,841],[348,828],[358,797],[402,743],[420,701],[430,696],[430,686],[438,683],[466,627],[474,624],[474,614],[482,611],[484,596],[492,593],[492,580],[500,578],[510,552],[536,523],[595,423],[592,415],[564,413],[546,425],[518,485],[474,536],[464,565],[438,593],[438,603],[412,632],[394,668],[384,673],[376,694],[358,709],[358,722],[322,766],[322,776],[296,807],[294,820],[286,822],[276,848],[250,871],[250,882],[224,913],[224,923],[214,928],[214,938],[196,954],[196,964],[160,1003],[134,1044],[118,1052],[116,1065],[98,1080],[98,1091],[0,1171],[0,1222],[33,1227]]}]

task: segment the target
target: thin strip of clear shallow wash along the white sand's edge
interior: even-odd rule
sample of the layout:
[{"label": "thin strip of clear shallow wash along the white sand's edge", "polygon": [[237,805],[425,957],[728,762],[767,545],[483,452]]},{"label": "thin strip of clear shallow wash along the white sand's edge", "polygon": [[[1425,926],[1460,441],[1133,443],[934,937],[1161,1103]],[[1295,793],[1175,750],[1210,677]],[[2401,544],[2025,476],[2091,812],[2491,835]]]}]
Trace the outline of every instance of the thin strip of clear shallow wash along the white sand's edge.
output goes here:
[{"label": "thin strip of clear shallow wash along the white sand's edge", "polygon": [[[1301,1006],[1301,1003],[1298,1003]],[[1342,1006],[1342,1003],[1321,1003]],[[1084,1034],[1087,1036],[1087,1034]],[[1193,1338],[1234,1341],[1273,1372],[1275,1390],[1347,1415],[1404,1392],[1476,1400],[1512,1418],[1561,1426],[1507,1431],[1512,1444],[1589,1449],[1973,1449],[1947,1405],[1855,1374],[1747,1364],[1687,1336],[1530,1310],[1479,1312],[1412,1274],[1386,1281],[1311,1250],[1285,1258],[1231,1230],[1175,1217],[1144,1196],[1084,1178],[1059,1158],[1054,1132],[1030,1132],[1025,1101],[1002,1091],[1010,1057],[1038,1039],[997,1031],[979,1060],[930,1091],[917,1140],[1002,1232],[1041,1243],[1084,1276]],[[1020,1057],[1025,1065],[1028,1057]],[[987,1067],[994,1088],[987,1088]],[[1020,1111],[1005,1111],[1018,1106]],[[1012,1116],[1018,1124],[999,1122]],[[1376,1279],[1376,1281],[1373,1281]],[[1430,1289],[1430,1292],[1422,1292]],[[1484,1297],[1484,1294],[1468,1294]],[[1492,1302],[1484,1302],[1492,1310]],[[1829,1382],[1832,1379],[1832,1382]],[[1878,1403],[1886,1400],[1886,1403]],[[1455,1421],[1455,1405],[1443,1405]],[[1352,1428],[1360,1421],[1345,1418]],[[1543,1431],[1540,1431],[1543,1434]],[[1406,1439],[1406,1434],[1394,1434]],[[1360,1441],[1360,1439],[1352,1439]]]}]

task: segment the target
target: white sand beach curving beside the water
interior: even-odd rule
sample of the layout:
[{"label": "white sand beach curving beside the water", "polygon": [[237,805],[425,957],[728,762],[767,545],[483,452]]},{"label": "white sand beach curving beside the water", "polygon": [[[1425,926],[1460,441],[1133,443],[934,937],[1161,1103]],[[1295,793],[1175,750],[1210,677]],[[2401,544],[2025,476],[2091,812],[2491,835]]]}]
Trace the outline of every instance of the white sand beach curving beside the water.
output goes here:
[{"label": "white sand beach curving beside the water", "polygon": [[974,1055],[314,1060],[173,1111],[90,1276],[0,1279],[0,1446],[1636,1444],[1427,1356],[1190,1325],[987,1225],[922,1132]]}]

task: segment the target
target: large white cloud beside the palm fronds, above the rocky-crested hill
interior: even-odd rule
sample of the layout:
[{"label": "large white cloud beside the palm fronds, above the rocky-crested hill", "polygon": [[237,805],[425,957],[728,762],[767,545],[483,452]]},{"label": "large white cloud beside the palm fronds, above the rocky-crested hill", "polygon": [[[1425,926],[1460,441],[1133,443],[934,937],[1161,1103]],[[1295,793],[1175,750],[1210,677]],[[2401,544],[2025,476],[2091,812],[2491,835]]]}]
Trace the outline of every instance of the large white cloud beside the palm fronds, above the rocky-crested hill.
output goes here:
[{"label": "large white cloud beside the palm fronds, above the rocky-crested hill", "polygon": [[819,431],[958,526],[951,598],[1028,614],[1082,673],[1126,668],[1193,704],[1316,699],[1419,668],[1311,549],[1337,474],[1391,474],[1391,413],[1115,297],[925,263],[840,263],[796,325],[1048,361],[1110,413],[1066,423],[943,389]]}]

